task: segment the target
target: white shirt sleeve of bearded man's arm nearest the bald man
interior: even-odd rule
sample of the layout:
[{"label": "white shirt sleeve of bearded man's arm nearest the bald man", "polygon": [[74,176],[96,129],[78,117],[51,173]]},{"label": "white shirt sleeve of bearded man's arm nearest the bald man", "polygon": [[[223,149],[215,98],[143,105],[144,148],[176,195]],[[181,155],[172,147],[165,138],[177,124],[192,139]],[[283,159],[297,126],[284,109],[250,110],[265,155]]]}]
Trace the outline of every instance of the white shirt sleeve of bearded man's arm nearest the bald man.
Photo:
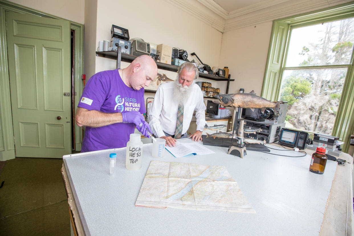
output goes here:
[{"label": "white shirt sleeve of bearded man's arm nearest the bald man", "polygon": [[164,100],[164,94],[160,86],[156,91],[154,102],[151,105],[150,110],[148,112],[150,128],[152,129],[154,135],[158,138],[165,136],[165,133],[162,130],[161,123],[159,120],[161,110],[162,110],[163,100]]}]

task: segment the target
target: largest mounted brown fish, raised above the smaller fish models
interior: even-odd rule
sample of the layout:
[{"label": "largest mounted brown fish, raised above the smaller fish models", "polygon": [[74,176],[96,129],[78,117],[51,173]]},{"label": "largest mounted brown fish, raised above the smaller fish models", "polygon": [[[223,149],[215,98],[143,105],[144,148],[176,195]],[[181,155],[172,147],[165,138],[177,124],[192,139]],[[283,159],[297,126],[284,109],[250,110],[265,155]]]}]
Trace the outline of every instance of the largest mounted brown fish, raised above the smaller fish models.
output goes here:
[{"label": "largest mounted brown fish, raised above the smaller fish models", "polygon": [[253,90],[250,93],[217,94],[214,95],[214,97],[219,99],[219,101],[213,101],[214,103],[226,107],[232,107],[236,112],[239,110],[239,107],[250,108],[252,111],[254,111],[255,108],[261,108],[262,113],[264,113],[266,108],[273,108],[275,114],[279,115],[280,104],[286,103],[283,101],[274,103],[257,96]]}]

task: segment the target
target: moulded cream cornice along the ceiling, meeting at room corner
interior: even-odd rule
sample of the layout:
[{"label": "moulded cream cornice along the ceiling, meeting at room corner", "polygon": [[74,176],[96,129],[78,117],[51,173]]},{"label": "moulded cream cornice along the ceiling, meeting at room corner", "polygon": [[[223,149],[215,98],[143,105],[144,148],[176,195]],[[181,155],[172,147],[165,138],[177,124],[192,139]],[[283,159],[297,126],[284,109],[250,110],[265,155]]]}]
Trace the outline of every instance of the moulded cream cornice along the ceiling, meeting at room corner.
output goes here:
[{"label": "moulded cream cornice along the ceiling, meeting at room corner", "polygon": [[224,33],[275,19],[344,4],[352,0],[265,0],[227,12],[213,0],[165,0]]}]

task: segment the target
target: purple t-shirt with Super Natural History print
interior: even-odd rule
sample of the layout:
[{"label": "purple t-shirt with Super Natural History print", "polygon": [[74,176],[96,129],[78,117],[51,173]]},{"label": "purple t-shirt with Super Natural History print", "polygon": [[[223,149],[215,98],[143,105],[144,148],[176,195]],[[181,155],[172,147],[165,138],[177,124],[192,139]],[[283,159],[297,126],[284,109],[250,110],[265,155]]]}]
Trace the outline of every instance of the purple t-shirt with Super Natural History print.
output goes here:
[{"label": "purple t-shirt with Super Natural History print", "polygon": [[[144,89],[134,90],[126,86],[118,69],[93,75],[87,82],[78,107],[104,113],[146,112]],[[125,147],[134,133],[133,123],[114,123],[103,127],[86,127],[81,152]]]}]

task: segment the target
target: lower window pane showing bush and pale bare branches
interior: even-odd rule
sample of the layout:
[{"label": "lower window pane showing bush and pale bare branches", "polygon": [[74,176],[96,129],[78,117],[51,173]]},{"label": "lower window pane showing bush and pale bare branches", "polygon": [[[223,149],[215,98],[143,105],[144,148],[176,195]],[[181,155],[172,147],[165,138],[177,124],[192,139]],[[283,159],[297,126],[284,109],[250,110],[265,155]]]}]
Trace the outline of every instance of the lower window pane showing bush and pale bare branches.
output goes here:
[{"label": "lower window pane showing bush and pale bare branches", "polygon": [[288,102],[287,128],[331,134],[347,68],[285,70],[280,100]]}]

